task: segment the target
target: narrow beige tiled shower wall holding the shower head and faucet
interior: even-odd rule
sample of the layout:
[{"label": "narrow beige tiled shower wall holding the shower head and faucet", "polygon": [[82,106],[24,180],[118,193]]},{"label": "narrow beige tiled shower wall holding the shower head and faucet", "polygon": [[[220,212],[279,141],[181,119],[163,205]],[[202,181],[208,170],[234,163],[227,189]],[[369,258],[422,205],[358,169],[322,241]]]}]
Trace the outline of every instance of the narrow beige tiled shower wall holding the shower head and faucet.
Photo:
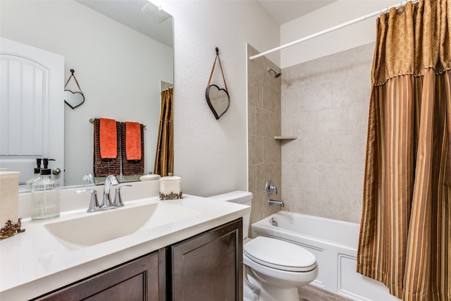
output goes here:
[{"label": "narrow beige tiled shower wall holding the shower head and faucet", "polygon": [[[247,46],[247,57],[259,52]],[[248,143],[249,143],[249,191],[253,193],[251,223],[280,210],[268,205],[265,192],[266,180],[272,180],[279,193],[271,199],[280,200],[281,195],[281,146],[275,136],[280,135],[280,77],[268,73],[268,67],[279,68],[262,57],[248,61]]]}]

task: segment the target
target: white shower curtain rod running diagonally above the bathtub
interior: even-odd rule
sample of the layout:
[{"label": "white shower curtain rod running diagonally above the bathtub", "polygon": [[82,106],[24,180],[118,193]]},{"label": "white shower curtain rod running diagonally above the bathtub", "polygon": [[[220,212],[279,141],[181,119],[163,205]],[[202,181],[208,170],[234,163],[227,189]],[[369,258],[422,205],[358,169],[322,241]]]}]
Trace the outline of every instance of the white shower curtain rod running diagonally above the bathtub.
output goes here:
[{"label": "white shower curtain rod running diagonally above the bathtub", "polygon": [[[416,3],[418,1],[419,0],[412,0],[412,3]],[[330,28],[328,28],[326,30],[321,30],[320,32],[316,32],[313,35],[308,35],[307,37],[302,37],[301,39],[297,39],[296,41],[280,45],[279,47],[270,49],[268,51],[261,52],[261,54],[256,54],[254,56],[249,56],[249,60],[252,61],[254,59],[258,59],[261,56],[266,56],[267,54],[272,54],[273,52],[276,52],[276,51],[279,51],[279,50],[291,47],[291,46],[293,46],[295,44],[299,44],[301,42],[305,42],[308,39],[313,39],[314,37],[319,37],[320,35],[325,35],[326,33],[333,32],[335,30],[339,30],[342,27],[346,27],[346,26],[352,25],[354,23],[362,22],[363,20],[366,20],[368,18],[371,18],[371,17],[374,17],[374,16],[381,15],[383,13],[386,13],[386,12],[390,11],[390,8],[400,8],[401,6],[404,6],[405,4],[407,4],[407,2],[409,2],[409,1],[401,1],[400,4],[395,4],[393,6],[388,6],[386,8],[382,8],[381,10],[375,11],[374,13],[369,13],[368,15],[365,15],[365,16],[362,16],[362,17],[359,17],[359,18],[355,18],[354,20],[347,21],[347,22],[342,23],[340,25],[335,25],[335,26],[330,27]]]}]

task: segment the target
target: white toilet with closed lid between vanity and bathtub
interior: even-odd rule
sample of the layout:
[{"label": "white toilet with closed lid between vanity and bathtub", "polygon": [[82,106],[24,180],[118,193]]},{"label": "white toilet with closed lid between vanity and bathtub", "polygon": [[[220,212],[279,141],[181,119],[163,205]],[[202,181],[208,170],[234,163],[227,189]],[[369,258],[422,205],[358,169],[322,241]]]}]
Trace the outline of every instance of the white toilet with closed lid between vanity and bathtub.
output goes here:
[{"label": "white toilet with closed lid between vanity and bathtub", "polygon": [[[233,191],[209,199],[250,206],[252,193]],[[314,254],[299,245],[276,238],[258,236],[247,241],[249,218],[250,215],[243,216],[243,263],[246,268],[245,278],[259,290],[259,299],[254,300],[299,301],[297,288],[307,285],[318,276]]]}]

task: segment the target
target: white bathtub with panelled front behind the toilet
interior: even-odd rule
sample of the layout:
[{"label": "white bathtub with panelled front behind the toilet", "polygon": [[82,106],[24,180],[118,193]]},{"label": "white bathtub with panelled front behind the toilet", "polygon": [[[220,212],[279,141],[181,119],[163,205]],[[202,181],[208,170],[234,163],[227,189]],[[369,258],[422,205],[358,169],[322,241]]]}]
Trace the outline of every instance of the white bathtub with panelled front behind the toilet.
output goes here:
[{"label": "white bathtub with panelled front behind the toilet", "polygon": [[319,275],[312,285],[352,300],[400,301],[385,285],[355,271],[358,223],[279,211],[252,224],[252,237],[259,235],[296,243],[315,254]]}]

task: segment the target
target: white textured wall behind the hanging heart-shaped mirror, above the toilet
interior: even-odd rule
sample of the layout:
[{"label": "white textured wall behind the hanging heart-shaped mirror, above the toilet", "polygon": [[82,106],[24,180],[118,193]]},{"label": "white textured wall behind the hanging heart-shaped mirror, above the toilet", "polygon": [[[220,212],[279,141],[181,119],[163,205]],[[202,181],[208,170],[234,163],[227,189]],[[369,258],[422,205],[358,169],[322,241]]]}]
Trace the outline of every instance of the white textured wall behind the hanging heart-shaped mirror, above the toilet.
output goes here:
[{"label": "white textured wall behind the hanging heart-shaped mirror, above the toilet", "polygon": [[[175,18],[174,170],[183,192],[247,190],[246,43],[260,51],[277,47],[279,28],[257,1],[166,2]],[[230,108],[218,121],[205,101],[215,47],[230,93]],[[222,86],[220,76],[212,82]]]}]

